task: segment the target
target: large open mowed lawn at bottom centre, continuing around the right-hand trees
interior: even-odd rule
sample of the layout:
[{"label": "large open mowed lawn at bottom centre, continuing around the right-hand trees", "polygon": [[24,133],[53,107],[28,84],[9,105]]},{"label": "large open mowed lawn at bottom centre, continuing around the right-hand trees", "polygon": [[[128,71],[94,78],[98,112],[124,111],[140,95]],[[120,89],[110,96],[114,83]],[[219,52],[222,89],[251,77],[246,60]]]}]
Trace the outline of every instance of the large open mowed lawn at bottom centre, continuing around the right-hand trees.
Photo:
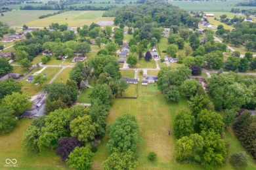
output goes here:
[{"label": "large open mowed lawn at bottom centre, continuing around the right-hand trees", "polygon": [[[193,163],[177,163],[173,156],[176,140],[172,131],[174,119],[179,110],[188,109],[186,99],[182,97],[179,103],[167,103],[161,92],[157,90],[156,84],[142,86],[139,82],[138,88],[138,99],[115,99],[108,115],[108,124],[123,114],[132,114],[137,118],[141,139],[137,146],[138,169],[203,169]],[[168,135],[167,130],[172,131],[171,135]],[[225,134],[226,141],[230,141],[230,154],[244,150],[232,131],[225,131]],[[92,169],[102,169],[102,161],[109,156],[106,150],[107,141],[106,135],[95,153]],[[147,154],[151,151],[158,154],[156,161],[148,161]],[[256,168],[252,158],[248,164],[247,169]],[[226,163],[224,167],[214,169],[234,169],[234,167]]]}]

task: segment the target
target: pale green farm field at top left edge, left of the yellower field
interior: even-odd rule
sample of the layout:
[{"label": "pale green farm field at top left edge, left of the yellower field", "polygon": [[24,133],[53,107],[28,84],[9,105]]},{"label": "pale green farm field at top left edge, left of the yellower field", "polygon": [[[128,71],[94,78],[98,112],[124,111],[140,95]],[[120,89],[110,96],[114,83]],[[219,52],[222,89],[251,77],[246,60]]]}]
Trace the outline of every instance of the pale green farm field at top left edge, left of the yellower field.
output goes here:
[{"label": "pale green farm field at top left edge, left of the yellower field", "polygon": [[[26,22],[36,20],[41,15],[53,12],[56,12],[56,10],[12,10],[11,12],[5,12],[5,16],[1,17],[1,22],[6,22],[9,26],[12,27],[22,27],[22,25]],[[35,26],[39,27],[40,25]]]}]

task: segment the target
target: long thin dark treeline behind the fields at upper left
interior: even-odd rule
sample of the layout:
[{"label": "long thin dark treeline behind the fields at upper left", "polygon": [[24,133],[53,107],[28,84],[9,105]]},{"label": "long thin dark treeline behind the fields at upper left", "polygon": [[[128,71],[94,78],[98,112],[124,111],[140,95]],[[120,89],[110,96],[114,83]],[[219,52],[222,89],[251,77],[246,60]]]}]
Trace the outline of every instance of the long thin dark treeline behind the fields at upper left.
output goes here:
[{"label": "long thin dark treeline behind the fields at upper left", "polygon": [[76,7],[76,6],[49,6],[49,5],[42,5],[34,7],[32,5],[26,5],[24,7],[20,7],[20,10],[110,10],[114,9],[116,6],[110,5],[108,7],[94,7],[94,6],[83,6],[83,7]]}]

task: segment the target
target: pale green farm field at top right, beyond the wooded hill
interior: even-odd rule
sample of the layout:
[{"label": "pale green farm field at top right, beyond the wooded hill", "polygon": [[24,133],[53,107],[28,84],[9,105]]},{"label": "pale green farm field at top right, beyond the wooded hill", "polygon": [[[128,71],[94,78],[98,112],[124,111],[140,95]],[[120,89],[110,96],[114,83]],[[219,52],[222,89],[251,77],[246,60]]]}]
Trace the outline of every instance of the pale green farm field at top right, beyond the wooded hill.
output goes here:
[{"label": "pale green farm field at top right, beyond the wooded hill", "polygon": [[235,7],[237,3],[242,2],[242,0],[228,0],[228,1],[171,1],[171,5],[177,6],[180,9],[192,10],[192,11],[223,11],[230,12],[232,8],[251,9],[251,7]]}]

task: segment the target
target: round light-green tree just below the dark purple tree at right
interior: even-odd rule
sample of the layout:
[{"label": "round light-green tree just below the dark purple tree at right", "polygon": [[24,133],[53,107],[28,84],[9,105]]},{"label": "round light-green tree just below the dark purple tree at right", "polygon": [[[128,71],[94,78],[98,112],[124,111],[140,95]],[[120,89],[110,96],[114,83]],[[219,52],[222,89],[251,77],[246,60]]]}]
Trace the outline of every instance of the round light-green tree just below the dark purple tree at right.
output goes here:
[{"label": "round light-green tree just below the dark purple tree at right", "polygon": [[181,90],[184,94],[188,97],[191,97],[196,94],[196,90],[198,86],[201,86],[200,83],[195,79],[187,79],[184,80],[183,84],[181,85]]}]

